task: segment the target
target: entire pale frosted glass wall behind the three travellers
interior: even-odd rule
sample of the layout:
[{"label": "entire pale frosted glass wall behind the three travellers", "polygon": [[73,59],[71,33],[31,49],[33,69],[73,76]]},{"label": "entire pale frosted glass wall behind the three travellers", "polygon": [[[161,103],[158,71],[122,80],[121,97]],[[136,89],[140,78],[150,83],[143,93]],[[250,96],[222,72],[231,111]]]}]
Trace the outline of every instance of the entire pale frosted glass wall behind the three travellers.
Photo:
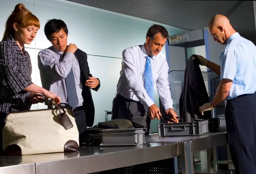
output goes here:
[{"label": "entire pale frosted glass wall behind the three travellers", "polygon": [[[1,7],[4,7],[0,11],[0,22],[2,23],[0,33],[4,33],[4,24],[18,3],[23,3],[27,9],[33,12],[40,20],[41,25],[36,39],[30,45],[25,46],[33,66],[33,82],[41,86],[37,54],[41,49],[51,46],[44,35],[45,23],[53,18],[62,19],[68,26],[68,43],[76,43],[79,49],[88,54],[90,71],[101,81],[99,91],[92,92],[95,104],[94,124],[104,121],[103,111],[112,110],[123,50],[130,46],[142,45],[145,42],[148,28],[156,22],[64,0],[0,0]],[[172,26],[163,26],[166,27],[170,35],[184,31]],[[165,48],[160,54],[165,57]],[[158,99],[156,89],[155,99]],[[156,104],[159,106],[158,102],[156,101]],[[45,108],[43,104],[33,106],[33,109],[42,108]],[[156,124],[154,122],[153,124],[156,131]]]}]

